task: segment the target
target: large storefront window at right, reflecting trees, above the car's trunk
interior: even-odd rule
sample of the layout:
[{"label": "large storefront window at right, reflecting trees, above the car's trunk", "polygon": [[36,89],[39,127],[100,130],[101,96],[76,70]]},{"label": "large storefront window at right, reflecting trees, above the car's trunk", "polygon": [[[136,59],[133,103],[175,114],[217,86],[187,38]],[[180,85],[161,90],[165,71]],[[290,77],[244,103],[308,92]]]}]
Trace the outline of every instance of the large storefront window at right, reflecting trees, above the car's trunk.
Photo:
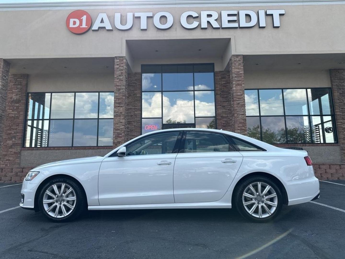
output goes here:
[{"label": "large storefront window at right, reflecting trees, above the car's trunk", "polygon": [[335,143],[330,88],[245,90],[247,134],[267,143]]}]

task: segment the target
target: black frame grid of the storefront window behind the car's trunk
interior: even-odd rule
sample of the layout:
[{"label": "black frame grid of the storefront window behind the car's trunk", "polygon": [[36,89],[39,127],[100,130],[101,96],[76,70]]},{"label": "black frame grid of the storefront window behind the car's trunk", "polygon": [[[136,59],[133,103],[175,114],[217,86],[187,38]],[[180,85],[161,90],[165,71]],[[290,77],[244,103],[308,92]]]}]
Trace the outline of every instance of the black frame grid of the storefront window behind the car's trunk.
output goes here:
[{"label": "black frame grid of the storefront window behind the car's trunk", "polygon": [[[285,100],[284,100],[284,90],[285,89],[304,89],[306,92],[306,101],[307,101],[307,112],[308,114],[305,115],[286,115],[285,112]],[[331,108],[331,114],[323,114],[323,111],[321,109],[320,106],[320,114],[311,114],[310,112],[310,104],[309,104],[309,96],[308,96],[308,89],[327,89],[329,90],[329,98],[330,98],[330,108]],[[262,122],[261,122],[261,118],[262,117],[284,117],[284,125],[285,125],[285,138],[286,138],[286,142],[284,143],[271,143],[271,144],[292,144],[292,145],[300,145],[300,144],[337,144],[338,143],[338,135],[337,135],[337,129],[336,129],[336,123],[335,123],[335,111],[334,111],[334,103],[333,103],[333,92],[332,92],[332,88],[331,87],[305,87],[305,88],[300,88],[300,87],[286,87],[286,88],[246,88],[244,89],[246,90],[256,90],[257,91],[257,97],[258,97],[258,109],[259,109],[259,114],[258,115],[246,115],[247,117],[258,117],[259,118],[259,126],[260,126],[260,141],[263,141],[263,136],[262,136]],[[260,109],[260,90],[281,90],[282,91],[282,103],[283,103],[283,115],[261,115],[261,109]],[[319,103],[319,105],[321,105],[321,103]],[[308,117],[308,123],[309,123],[309,137],[310,137],[310,142],[307,143],[293,143],[293,142],[288,142],[288,133],[287,133],[287,126],[286,126],[286,117],[303,117],[306,116]],[[333,124],[333,131],[334,131],[334,142],[326,142],[325,139],[325,134],[323,134],[322,136],[322,143],[315,143],[313,141],[313,132],[312,132],[312,122],[311,122],[311,118],[313,116],[319,116],[320,120],[321,120],[321,125],[322,125],[322,132],[324,132],[324,121],[323,121],[323,116],[330,116],[331,117],[331,122]]]}]

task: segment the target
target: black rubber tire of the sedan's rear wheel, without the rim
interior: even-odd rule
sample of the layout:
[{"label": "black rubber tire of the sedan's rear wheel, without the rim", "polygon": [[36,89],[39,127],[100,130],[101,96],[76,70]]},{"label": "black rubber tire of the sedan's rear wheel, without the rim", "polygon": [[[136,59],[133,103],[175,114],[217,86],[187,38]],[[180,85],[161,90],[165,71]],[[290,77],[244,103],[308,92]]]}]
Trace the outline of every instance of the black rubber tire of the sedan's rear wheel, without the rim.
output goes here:
[{"label": "black rubber tire of the sedan's rear wheel, without the rim", "polygon": [[[249,212],[245,209],[245,206],[243,205],[243,193],[244,193],[245,189],[250,184],[255,184],[257,182],[262,182],[262,183],[270,185],[274,189],[274,191],[277,195],[277,207],[276,207],[276,209],[273,211],[272,214],[270,214],[269,216],[267,216],[265,218],[258,218],[258,217],[255,217],[255,216],[249,214]],[[265,176],[259,176],[259,175],[258,176],[250,176],[247,179],[245,179],[244,181],[242,181],[238,186],[236,186],[236,189],[234,190],[233,202],[234,202],[234,205],[235,205],[237,211],[244,218],[246,218],[250,221],[259,222],[259,223],[268,222],[268,221],[273,220],[275,217],[277,217],[278,214],[280,213],[280,211],[282,210],[283,203],[284,203],[282,190],[280,190],[278,185],[274,181],[272,181],[271,179],[269,179]],[[272,208],[272,207],[270,207],[270,208]],[[258,210],[258,208],[256,210]],[[263,209],[263,211],[264,211],[264,209]]]}]

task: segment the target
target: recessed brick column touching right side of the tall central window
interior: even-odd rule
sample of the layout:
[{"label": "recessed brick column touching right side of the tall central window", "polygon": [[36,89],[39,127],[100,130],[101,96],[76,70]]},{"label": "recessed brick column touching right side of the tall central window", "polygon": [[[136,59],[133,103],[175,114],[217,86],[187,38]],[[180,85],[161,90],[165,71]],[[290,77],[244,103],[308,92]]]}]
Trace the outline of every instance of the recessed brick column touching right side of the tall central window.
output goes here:
[{"label": "recessed brick column touching right side of the tall central window", "polygon": [[215,94],[217,129],[232,130],[231,101],[230,101],[230,74],[229,71],[215,71]]}]

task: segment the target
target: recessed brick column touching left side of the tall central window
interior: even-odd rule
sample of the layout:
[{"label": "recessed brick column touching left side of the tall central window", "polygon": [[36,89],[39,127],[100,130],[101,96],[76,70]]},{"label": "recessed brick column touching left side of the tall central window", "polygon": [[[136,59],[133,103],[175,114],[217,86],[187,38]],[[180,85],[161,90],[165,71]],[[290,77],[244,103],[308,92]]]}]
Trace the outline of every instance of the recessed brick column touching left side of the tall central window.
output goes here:
[{"label": "recessed brick column touching left side of the tall central window", "polygon": [[140,135],[141,73],[128,74],[127,141]]}]

